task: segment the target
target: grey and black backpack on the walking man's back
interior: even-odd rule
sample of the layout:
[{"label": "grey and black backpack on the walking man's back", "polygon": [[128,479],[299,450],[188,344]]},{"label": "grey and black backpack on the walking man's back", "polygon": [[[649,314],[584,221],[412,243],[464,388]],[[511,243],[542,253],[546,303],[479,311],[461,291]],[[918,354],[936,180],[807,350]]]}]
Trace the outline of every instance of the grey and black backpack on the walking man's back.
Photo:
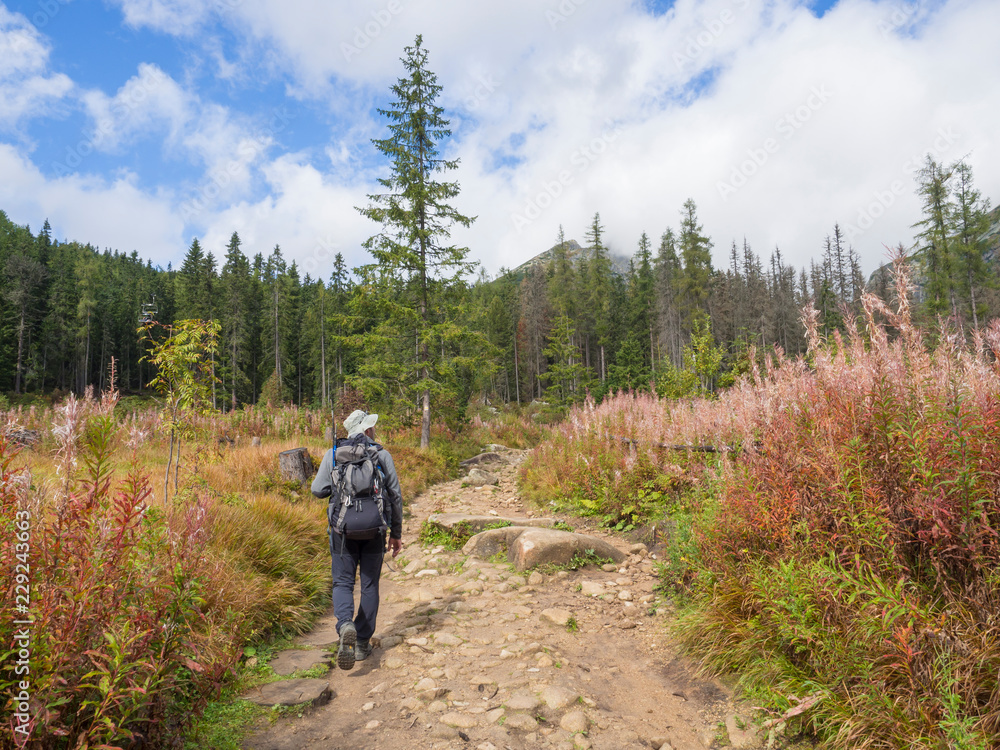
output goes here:
[{"label": "grey and black backpack on the walking man's back", "polygon": [[334,449],[327,519],[345,539],[374,539],[388,529],[378,450],[364,435]]}]

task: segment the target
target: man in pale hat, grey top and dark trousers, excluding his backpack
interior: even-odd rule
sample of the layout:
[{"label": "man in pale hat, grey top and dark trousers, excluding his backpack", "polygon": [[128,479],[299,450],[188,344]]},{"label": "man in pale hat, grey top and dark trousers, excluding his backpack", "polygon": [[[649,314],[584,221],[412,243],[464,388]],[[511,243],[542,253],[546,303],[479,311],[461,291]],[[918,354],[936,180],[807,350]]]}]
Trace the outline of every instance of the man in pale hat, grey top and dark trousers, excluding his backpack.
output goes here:
[{"label": "man in pale hat, grey top and dark trousers, excluding his backpack", "polygon": [[[385,513],[384,528],[388,530],[374,533],[371,538],[355,539],[351,535],[338,533],[330,526],[330,557],[333,571],[333,611],[337,616],[337,633],[340,645],[337,649],[337,666],[351,669],[355,661],[364,661],[372,652],[371,637],[375,632],[378,616],[378,582],[382,573],[382,558],[386,549],[395,557],[403,548],[403,495],[399,488],[399,477],[392,456],[375,442],[375,423],[378,414],[368,414],[357,409],[344,420],[347,437],[337,440],[334,448],[328,450],[320,463],[312,493],[316,497],[330,497],[334,492],[337,473],[336,449],[345,445],[371,446],[377,455],[373,479],[378,492],[382,493]],[[362,502],[368,498],[362,498]],[[370,499],[369,499],[370,500]],[[331,500],[340,506],[338,498]],[[329,517],[337,518],[340,507],[331,508]],[[342,517],[342,516],[341,516]],[[361,571],[361,604],[357,617],[354,615],[354,578]]]}]

